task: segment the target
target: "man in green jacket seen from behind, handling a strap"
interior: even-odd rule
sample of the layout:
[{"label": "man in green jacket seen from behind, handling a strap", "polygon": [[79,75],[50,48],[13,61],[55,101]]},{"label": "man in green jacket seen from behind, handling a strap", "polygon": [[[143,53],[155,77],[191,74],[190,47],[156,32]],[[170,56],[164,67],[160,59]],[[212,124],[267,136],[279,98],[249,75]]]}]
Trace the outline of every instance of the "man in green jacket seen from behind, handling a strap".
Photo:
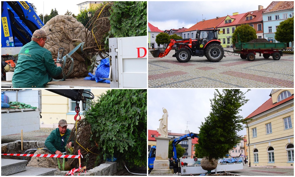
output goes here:
[{"label": "man in green jacket seen from behind, handling a strap", "polygon": [[55,64],[51,52],[44,47],[50,39],[43,30],[36,30],[32,41],[19,51],[17,65],[12,76],[14,88],[45,88],[53,77],[59,76],[62,67]]}]

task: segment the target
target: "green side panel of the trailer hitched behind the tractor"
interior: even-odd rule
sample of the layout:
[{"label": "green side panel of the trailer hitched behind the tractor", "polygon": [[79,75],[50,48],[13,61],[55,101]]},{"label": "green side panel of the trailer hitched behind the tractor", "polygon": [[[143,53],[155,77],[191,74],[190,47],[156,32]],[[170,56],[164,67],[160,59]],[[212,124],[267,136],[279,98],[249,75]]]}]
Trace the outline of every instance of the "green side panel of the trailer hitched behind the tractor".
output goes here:
[{"label": "green side panel of the trailer hitched behind the tractor", "polygon": [[271,42],[258,42],[258,43],[236,43],[236,50],[283,50],[287,48],[286,43],[271,43]]}]

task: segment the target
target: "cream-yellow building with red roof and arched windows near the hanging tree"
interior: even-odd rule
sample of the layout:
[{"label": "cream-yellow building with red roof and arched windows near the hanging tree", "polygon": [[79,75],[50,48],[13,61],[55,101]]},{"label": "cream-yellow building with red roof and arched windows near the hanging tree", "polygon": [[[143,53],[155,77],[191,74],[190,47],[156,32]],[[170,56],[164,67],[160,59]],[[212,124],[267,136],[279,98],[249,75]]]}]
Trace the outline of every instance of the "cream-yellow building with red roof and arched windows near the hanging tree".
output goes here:
[{"label": "cream-yellow building with red roof and arched windows near the hanging tree", "polygon": [[294,168],[294,89],[273,89],[246,118],[248,164]]}]

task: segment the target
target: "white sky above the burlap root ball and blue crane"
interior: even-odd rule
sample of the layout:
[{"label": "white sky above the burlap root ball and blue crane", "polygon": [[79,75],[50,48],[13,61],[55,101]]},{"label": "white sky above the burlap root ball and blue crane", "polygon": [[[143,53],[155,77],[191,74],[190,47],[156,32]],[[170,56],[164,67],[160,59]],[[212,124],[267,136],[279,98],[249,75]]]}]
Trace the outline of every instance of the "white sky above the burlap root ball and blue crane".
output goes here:
[{"label": "white sky above the burlap root ball and blue crane", "polygon": [[[27,1],[28,3],[34,4],[34,6],[37,8],[37,15],[40,14],[50,14],[51,9],[55,9],[58,11],[59,15],[64,15],[67,10],[69,12],[72,12],[73,14],[77,15],[80,13],[77,4],[80,4],[82,2],[85,2],[84,0],[71,0],[71,1],[37,1],[37,0],[31,0]],[[44,6],[43,6],[44,4]],[[43,11],[44,7],[44,11]]]}]

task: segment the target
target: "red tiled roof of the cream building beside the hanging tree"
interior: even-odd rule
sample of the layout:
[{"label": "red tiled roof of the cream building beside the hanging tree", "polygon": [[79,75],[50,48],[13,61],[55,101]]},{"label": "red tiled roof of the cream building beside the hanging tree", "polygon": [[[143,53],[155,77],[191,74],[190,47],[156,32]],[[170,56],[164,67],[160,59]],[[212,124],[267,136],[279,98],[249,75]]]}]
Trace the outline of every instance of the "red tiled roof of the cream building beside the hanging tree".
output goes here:
[{"label": "red tiled roof of the cream building beside the hanging tree", "polygon": [[254,112],[252,112],[248,117],[246,117],[246,119],[249,119],[251,117],[254,117],[260,113],[263,113],[269,109],[272,109],[280,104],[283,104],[291,99],[294,99],[294,95],[286,98],[286,99],[283,99],[282,101],[279,101],[279,102],[276,102],[275,104],[273,104],[273,101],[272,99],[268,99],[265,103],[263,103],[259,108],[257,108]]}]

